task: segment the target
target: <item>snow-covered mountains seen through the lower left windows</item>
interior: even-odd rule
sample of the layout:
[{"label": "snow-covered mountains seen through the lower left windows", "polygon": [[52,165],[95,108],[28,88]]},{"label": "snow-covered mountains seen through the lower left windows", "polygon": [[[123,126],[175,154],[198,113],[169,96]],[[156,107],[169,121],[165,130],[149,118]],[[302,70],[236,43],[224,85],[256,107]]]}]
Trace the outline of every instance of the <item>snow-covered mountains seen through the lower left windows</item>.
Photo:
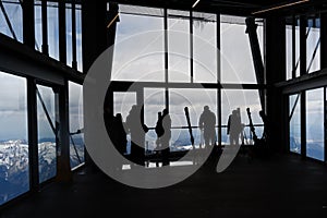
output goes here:
[{"label": "snow-covered mountains seen through the lower left windows", "polygon": [[[56,146],[52,142],[38,145],[39,181],[56,174]],[[0,142],[0,204],[29,190],[28,145],[26,142]]]}]

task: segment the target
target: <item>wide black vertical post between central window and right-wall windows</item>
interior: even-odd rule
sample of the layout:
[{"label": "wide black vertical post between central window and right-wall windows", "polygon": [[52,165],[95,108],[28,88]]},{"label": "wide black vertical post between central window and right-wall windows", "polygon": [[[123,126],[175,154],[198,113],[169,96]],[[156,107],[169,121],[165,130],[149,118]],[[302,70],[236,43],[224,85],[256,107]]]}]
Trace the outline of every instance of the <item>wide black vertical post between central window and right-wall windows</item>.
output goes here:
[{"label": "wide black vertical post between central window and right-wall windows", "polygon": [[[276,40],[278,39],[278,40]],[[276,152],[283,152],[287,146],[283,119],[283,96],[274,84],[286,80],[286,23],[284,19],[270,15],[265,21],[266,58],[266,113],[269,122],[268,146]],[[278,63],[278,64],[276,64]],[[276,107],[278,106],[278,107]]]}]

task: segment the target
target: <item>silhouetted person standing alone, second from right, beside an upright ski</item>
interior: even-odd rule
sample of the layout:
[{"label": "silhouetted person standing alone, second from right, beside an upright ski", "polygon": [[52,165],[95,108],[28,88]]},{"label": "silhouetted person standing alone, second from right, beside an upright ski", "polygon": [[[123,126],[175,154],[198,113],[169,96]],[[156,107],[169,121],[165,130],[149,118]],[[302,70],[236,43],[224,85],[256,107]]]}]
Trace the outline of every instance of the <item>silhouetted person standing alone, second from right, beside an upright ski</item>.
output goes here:
[{"label": "silhouetted person standing alone, second from right, beside an upright ski", "polygon": [[210,111],[209,106],[205,106],[198,120],[198,128],[203,131],[205,147],[216,143],[216,116]]}]

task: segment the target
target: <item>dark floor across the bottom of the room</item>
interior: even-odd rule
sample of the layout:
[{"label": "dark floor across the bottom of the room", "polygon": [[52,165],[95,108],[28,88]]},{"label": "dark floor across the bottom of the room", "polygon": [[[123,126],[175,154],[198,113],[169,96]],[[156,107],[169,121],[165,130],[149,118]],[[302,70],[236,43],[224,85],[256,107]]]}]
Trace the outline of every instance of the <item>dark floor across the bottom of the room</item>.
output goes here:
[{"label": "dark floor across the bottom of the room", "polygon": [[249,161],[240,155],[221,173],[208,169],[172,186],[143,190],[86,167],[73,183],[49,184],[0,217],[327,217],[323,164],[293,155]]}]

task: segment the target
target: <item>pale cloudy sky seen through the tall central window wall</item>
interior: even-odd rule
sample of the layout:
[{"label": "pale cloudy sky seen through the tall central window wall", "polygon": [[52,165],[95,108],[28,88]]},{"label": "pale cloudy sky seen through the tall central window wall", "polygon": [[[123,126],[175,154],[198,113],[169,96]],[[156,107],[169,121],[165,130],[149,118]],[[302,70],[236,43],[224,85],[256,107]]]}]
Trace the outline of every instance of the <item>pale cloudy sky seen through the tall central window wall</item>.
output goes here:
[{"label": "pale cloudy sky seen through the tall central window wall", "polygon": [[[187,20],[170,19],[168,22],[168,51],[170,82],[190,82],[190,23]],[[114,47],[112,80],[116,81],[165,81],[165,45],[164,19],[121,14],[118,23],[117,45]],[[216,24],[203,23],[194,25],[194,82],[217,82],[217,49]],[[262,33],[259,33],[262,37]],[[135,44],[137,41],[137,44]],[[262,40],[261,40],[262,41]],[[221,24],[221,81],[225,83],[256,83],[249,36],[244,25]],[[242,60],[242,61],[240,61]],[[241,86],[240,86],[241,88]],[[197,119],[204,105],[209,105],[217,112],[216,90],[182,90],[172,89],[170,95],[170,113],[173,125],[185,125],[183,108],[191,108],[191,123],[197,125]],[[157,89],[159,98],[164,98],[164,89]],[[136,97],[124,100],[123,118],[129,107],[136,102]],[[122,102],[118,102],[121,105]],[[157,112],[165,107],[161,101],[158,107],[157,97],[145,96],[145,121],[154,125]],[[240,107],[243,111],[243,122],[247,122],[246,107],[254,112],[254,122],[262,123],[257,113],[261,110],[257,90],[230,90],[222,94],[222,123],[232,109]],[[118,106],[119,108],[121,106]],[[147,117],[150,117],[147,119]],[[152,120],[152,121],[150,121]]]}]

